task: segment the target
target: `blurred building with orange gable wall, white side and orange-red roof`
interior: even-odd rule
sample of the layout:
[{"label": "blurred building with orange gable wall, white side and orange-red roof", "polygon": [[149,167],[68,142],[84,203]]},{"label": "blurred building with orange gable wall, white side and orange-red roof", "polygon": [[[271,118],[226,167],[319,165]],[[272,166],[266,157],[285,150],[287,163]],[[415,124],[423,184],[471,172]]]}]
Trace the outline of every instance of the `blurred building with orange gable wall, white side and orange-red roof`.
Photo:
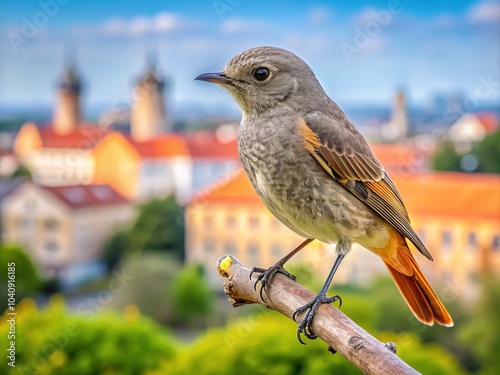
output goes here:
[{"label": "blurred building with orange gable wall, white side and orange-red roof", "polygon": [[113,132],[93,150],[96,183],[109,184],[127,199],[144,202],[175,195],[185,203],[191,195],[191,157],[177,134],[147,141]]}]

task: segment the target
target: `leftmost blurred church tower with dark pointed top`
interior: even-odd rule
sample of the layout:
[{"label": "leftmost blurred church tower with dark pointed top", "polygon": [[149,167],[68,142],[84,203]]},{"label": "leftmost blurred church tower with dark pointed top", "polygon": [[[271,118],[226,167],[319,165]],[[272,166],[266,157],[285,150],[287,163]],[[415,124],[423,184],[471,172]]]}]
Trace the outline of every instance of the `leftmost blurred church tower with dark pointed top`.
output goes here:
[{"label": "leftmost blurred church tower with dark pointed top", "polygon": [[71,133],[81,121],[80,93],[82,83],[74,64],[69,64],[58,84],[57,102],[52,126],[56,133]]}]

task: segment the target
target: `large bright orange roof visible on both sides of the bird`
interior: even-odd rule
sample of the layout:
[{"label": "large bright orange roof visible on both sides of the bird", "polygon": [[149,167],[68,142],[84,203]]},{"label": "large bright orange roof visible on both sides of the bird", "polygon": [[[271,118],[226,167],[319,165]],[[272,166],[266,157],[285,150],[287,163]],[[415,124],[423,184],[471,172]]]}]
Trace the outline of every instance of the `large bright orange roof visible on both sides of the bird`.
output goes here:
[{"label": "large bright orange roof visible on both sides of the bird", "polygon": [[[433,172],[392,176],[410,215],[500,220],[500,176]],[[259,204],[248,177],[239,170],[200,194],[198,203]]]}]

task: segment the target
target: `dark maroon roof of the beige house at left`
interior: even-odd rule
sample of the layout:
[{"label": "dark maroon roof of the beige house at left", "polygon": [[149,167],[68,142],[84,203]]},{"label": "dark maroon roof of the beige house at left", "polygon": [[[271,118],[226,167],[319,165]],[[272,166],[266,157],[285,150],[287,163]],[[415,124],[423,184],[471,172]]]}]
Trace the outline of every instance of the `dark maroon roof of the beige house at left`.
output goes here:
[{"label": "dark maroon roof of the beige house at left", "polygon": [[71,208],[111,206],[128,202],[112,187],[104,184],[43,186],[42,188]]}]

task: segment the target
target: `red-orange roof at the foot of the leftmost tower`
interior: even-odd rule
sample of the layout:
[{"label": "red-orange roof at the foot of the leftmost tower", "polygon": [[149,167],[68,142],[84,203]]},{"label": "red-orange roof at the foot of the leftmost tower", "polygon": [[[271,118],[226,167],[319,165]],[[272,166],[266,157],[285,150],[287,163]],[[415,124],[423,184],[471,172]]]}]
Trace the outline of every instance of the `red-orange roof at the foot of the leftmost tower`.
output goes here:
[{"label": "red-orange roof at the foot of the leftmost tower", "polygon": [[43,147],[91,149],[109,130],[97,125],[79,125],[72,132],[59,134],[52,127],[38,128]]}]

